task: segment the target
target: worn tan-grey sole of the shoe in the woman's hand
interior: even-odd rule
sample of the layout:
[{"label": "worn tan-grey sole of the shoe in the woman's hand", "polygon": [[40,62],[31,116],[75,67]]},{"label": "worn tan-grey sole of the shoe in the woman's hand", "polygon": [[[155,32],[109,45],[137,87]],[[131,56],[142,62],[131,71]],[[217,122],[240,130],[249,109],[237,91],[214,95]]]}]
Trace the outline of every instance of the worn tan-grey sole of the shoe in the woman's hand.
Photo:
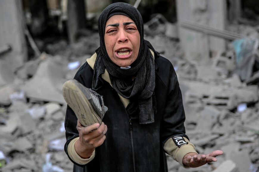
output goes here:
[{"label": "worn tan-grey sole of the shoe in the woman's hand", "polygon": [[[101,118],[94,111],[89,99],[91,99],[90,91],[86,89],[85,95],[73,80],[66,81],[62,88],[62,94],[68,106],[74,111],[79,122],[84,126],[95,123],[102,123]],[[85,97],[88,96],[88,97]]]}]

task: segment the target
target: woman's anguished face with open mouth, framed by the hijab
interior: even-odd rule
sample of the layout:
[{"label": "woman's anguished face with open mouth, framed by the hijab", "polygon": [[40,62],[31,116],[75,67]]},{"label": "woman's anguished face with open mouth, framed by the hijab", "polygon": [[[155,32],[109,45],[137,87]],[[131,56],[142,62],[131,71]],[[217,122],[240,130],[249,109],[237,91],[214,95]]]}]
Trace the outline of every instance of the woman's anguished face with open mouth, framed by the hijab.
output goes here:
[{"label": "woman's anguished face with open mouth, framed by the hijab", "polygon": [[125,15],[107,20],[104,42],[111,61],[120,67],[130,66],[138,57],[140,34],[134,21]]}]

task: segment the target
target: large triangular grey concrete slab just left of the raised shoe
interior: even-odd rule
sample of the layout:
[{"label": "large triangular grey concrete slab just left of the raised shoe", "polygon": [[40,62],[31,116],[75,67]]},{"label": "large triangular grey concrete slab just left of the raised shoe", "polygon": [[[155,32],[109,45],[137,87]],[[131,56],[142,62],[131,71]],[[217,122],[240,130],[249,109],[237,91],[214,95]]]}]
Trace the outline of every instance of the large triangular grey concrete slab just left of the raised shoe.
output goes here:
[{"label": "large triangular grey concrete slab just left of the raised shoe", "polygon": [[48,58],[40,63],[33,78],[26,81],[22,89],[31,99],[64,104],[61,91],[64,83],[63,70],[62,65]]}]

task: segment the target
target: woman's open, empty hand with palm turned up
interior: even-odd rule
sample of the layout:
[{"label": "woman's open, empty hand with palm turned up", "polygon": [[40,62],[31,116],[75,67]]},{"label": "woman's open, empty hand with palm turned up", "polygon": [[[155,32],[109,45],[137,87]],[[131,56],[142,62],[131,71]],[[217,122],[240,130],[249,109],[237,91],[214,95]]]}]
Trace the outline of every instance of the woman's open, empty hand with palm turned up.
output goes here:
[{"label": "woman's open, empty hand with palm turned up", "polygon": [[222,155],[223,151],[216,150],[211,152],[210,154],[196,154],[196,153],[188,153],[183,159],[182,163],[188,167],[196,168],[202,166],[208,162],[216,162],[216,156]]}]

